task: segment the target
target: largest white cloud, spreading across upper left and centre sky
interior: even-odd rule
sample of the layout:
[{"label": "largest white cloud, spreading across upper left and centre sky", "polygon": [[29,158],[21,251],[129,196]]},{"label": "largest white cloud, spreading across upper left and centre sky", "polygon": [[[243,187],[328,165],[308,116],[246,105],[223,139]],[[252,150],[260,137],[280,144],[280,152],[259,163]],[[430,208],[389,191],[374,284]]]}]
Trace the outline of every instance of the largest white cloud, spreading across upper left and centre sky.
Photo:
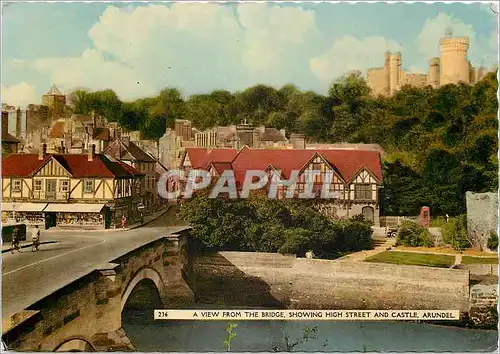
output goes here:
[{"label": "largest white cloud, spreading across upper left and centre sky", "polygon": [[[114,88],[122,99],[165,86],[205,91],[282,83],[290,60],[317,34],[314,13],[269,4],[109,6],[90,29],[81,57],[42,58],[32,65],[63,90]],[[137,84],[137,82],[140,84]]]}]

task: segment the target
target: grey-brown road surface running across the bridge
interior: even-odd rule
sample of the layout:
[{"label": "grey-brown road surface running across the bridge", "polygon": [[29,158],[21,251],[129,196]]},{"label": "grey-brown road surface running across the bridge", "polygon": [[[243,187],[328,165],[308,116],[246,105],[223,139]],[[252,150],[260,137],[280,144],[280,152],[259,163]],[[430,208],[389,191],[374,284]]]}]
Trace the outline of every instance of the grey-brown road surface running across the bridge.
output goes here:
[{"label": "grey-brown road surface running across the bridge", "polygon": [[143,227],[120,232],[50,232],[41,238],[57,243],[40,246],[38,252],[2,254],[2,318],[25,309],[45,296],[150,241],[185,229],[171,226],[166,215]]}]

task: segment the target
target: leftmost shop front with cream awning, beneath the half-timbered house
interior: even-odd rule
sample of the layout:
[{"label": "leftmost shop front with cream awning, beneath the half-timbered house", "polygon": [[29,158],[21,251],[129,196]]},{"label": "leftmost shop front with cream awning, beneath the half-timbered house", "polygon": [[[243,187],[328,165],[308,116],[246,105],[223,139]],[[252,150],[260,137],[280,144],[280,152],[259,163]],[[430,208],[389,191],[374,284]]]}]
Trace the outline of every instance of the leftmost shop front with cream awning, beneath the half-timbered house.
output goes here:
[{"label": "leftmost shop front with cream awning, beneath the half-timbered house", "polygon": [[43,210],[47,203],[2,203],[2,223],[22,223],[44,227]]}]

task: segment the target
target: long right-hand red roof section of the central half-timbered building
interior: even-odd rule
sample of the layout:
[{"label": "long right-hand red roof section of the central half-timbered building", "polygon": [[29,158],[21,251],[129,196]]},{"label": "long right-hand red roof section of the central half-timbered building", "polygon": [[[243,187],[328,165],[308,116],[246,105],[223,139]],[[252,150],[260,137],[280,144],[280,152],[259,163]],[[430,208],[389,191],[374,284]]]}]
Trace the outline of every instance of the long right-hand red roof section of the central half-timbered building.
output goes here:
[{"label": "long right-hand red roof section of the central half-timbered building", "polygon": [[301,170],[318,153],[336,169],[345,181],[352,179],[361,168],[382,180],[380,156],[375,151],[360,150],[276,150],[244,147],[231,162],[237,182],[243,182],[247,170],[264,171],[269,165],[281,170],[284,178],[291,171]]}]

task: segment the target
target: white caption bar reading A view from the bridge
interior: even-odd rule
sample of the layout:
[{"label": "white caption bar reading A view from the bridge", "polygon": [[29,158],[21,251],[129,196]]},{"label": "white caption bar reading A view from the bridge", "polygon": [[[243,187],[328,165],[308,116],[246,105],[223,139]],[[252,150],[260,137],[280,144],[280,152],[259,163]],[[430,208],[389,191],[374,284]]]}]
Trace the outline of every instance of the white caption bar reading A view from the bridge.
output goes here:
[{"label": "white caption bar reading A view from the bridge", "polygon": [[154,310],[155,320],[233,321],[446,321],[459,310]]}]

